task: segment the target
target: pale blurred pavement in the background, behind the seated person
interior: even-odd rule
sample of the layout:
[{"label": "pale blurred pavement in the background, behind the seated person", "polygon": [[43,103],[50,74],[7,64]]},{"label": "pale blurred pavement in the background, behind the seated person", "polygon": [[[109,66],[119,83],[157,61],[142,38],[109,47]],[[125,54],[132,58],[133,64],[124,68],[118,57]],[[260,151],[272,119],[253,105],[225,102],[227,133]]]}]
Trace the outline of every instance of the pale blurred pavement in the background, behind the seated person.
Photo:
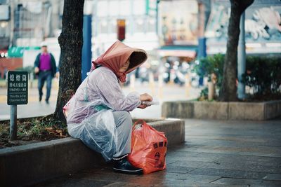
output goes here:
[{"label": "pale blurred pavement in the background, behind the seated person", "polygon": [[[185,88],[178,85],[164,85],[163,88],[159,88],[157,83],[154,87],[149,83],[136,83],[135,88],[126,86],[122,88],[125,95],[129,92],[137,91],[140,94],[147,92],[152,97],[159,101],[159,105],[150,106],[145,110],[136,109],[131,112],[133,118],[160,118],[161,117],[161,104],[165,101],[174,100],[188,100],[195,99],[200,95],[200,89],[198,88]],[[28,104],[18,105],[18,118],[29,118],[34,116],[45,116],[55,111],[55,104],[58,95],[58,88],[53,83],[51,90],[50,104],[46,104],[44,99],[46,95],[46,87],[44,87],[44,95],[41,102],[39,102],[38,90],[34,85],[33,88],[28,90]],[[10,106],[7,105],[7,90],[6,88],[0,88],[0,120],[8,120],[10,118]]]}]

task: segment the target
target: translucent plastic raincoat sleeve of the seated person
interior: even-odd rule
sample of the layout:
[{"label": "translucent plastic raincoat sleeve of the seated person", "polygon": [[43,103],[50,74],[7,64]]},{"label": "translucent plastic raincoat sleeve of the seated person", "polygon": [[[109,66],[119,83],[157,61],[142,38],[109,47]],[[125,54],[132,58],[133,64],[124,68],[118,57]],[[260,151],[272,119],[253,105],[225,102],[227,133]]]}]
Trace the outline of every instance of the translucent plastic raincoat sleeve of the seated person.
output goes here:
[{"label": "translucent plastic raincoat sleeve of the seated person", "polygon": [[124,95],[117,77],[113,72],[108,73],[103,71],[98,79],[96,85],[98,86],[100,95],[103,95],[113,110],[133,111],[133,109],[136,109],[141,104],[138,92],[131,92],[127,96]]}]

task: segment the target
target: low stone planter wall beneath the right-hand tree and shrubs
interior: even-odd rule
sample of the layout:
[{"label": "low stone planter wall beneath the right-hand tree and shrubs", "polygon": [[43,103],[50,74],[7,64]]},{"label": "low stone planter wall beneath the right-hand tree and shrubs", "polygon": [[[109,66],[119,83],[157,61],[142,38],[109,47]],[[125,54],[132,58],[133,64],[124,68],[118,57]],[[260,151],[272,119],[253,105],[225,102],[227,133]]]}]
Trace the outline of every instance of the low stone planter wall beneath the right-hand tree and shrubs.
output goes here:
[{"label": "low stone planter wall beneath the right-hand tree and shrubs", "polygon": [[165,118],[269,120],[281,116],[281,100],[270,102],[164,102]]}]

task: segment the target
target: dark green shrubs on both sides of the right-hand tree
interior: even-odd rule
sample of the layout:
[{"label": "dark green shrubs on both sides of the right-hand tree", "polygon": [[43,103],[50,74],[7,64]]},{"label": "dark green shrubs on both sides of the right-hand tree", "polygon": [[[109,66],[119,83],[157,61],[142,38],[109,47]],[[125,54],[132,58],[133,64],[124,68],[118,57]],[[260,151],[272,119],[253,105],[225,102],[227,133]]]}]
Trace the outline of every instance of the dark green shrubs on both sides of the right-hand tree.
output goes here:
[{"label": "dark green shrubs on both sides of the right-hand tree", "polygon": [[[223,61],[221,54],[208,56],[195,65],[195,72],[199,76],[216,75],[216,88],[221,89],[223,81]],[[247,56],[246,73],[242,82],[251,88],[252,93],[248,97],[252,100],[272,100],[281,98],[281,57],[271,56]],[[206,90],[202,90],[200,98],[204,98]]]}]

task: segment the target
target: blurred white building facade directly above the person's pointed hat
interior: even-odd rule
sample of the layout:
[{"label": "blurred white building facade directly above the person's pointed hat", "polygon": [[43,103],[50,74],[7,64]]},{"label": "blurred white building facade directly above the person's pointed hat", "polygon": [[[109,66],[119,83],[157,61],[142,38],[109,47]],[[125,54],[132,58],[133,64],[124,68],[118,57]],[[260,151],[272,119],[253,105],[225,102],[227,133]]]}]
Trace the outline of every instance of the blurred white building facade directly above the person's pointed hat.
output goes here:
[{"label": "blurred white building facade directly above the person's pointed hat", "polygon": [[157,0],[85,1],[93,16],[93,58],[98,57],[117,40],[117,20],[125,21],[124,43],[152,51],[159,47],[157,35]]}]

